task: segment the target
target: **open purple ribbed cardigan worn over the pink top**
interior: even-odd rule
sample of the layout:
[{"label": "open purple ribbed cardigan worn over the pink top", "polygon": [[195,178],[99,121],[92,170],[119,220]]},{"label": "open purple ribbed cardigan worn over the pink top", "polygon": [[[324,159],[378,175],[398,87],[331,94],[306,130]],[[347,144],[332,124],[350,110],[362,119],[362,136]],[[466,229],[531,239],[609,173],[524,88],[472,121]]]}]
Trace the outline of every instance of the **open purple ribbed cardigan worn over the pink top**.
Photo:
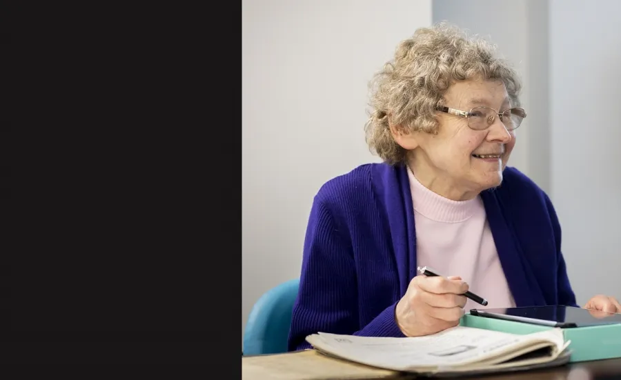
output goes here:
[{"label": "open purple ribbed cardigan worn over the pink top", "polygon": [[[546,194],[515,168],[481,193],[517,306],[577,306]],[[317,193],[304,241],[288,349],[315,332],[403,337],[395,306],[415,276],[414,210],[406,168],[371,163]],[[466,310],[467,311],[467,310]]]}]

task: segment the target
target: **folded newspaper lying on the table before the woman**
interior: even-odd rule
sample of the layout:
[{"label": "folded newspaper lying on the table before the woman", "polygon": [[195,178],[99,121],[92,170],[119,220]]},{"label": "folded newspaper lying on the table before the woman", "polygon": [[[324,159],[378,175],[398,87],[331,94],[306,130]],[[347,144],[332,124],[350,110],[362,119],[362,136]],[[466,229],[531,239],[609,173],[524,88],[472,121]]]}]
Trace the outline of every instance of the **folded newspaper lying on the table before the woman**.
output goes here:
[{"label": "folded newspaper lying on the table before the woman", "polygon": [[319,332],[306,337],[315,350],[375,368],[419,374],[504,372],[569,361],[560,328],[511,334],[456,326],[412,338],[357,337]]}]

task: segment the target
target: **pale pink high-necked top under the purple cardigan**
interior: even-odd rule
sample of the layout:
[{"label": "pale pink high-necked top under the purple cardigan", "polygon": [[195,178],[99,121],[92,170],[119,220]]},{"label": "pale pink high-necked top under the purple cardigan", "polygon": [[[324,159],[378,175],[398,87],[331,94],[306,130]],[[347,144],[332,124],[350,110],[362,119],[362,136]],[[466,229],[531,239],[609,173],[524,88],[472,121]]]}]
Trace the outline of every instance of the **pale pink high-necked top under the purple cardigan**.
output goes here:
[{"label": "pale pink high-necked top under the purple cardigan", "polygon": [[453,201],[424,187],[411,170],[408,177],[417,266],[430,266],[445,276],[460,276],[471,292],[489,302],[482,306],[469,299],[466,312],[473,308],[514,307],[481,198]]}]

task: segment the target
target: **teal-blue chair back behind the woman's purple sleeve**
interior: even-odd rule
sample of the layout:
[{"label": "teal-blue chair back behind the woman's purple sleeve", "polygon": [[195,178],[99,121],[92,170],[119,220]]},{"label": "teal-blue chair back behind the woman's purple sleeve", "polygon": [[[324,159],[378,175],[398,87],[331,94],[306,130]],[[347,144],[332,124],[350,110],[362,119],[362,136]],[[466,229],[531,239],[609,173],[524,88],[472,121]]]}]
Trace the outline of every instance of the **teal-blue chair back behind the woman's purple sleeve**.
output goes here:
[{"label": "teal-blue chair back behind the woman's purple sleeve", "polygon": [[244,355],[287,352],[298,287],[299,279],[286,281],[265,292],[255,303],[244,328]]}]

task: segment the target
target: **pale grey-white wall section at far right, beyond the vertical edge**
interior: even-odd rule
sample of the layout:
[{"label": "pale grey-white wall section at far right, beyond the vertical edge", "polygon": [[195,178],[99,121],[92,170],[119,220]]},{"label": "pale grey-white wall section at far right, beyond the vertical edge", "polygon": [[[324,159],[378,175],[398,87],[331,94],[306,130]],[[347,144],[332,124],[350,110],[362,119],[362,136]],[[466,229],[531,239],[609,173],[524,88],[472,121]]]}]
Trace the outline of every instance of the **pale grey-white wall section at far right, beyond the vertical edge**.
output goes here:
[{"label": "pale grey-white wall section at far right, beyond the vertical edge", "polygon": [[552,198],[580,303],[621,298],[621,2],[550,1]]}]

